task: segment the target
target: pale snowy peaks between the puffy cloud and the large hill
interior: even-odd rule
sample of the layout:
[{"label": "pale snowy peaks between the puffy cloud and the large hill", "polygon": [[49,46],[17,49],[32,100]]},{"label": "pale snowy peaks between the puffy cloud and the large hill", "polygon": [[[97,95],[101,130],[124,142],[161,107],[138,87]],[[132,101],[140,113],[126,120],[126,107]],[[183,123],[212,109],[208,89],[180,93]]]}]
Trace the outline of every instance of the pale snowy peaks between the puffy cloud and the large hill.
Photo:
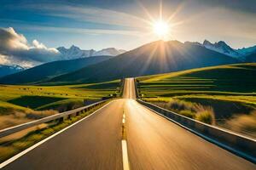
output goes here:
[{"label": "pale snowy peaks between the puffy cloud and the large hill", "polygon": [[63,59],[79,59],[84,57],[91,57],[91,56],[100,56],[100,55],[110,55],[116,56],[122,53],[125,53],[123,49],[116,49],[116,48],[104,48],[102,50],[96,51],[94,49],[84,50],[80,49],[76,46],[71,46],[70,48],[60,47],[57,48],[62,55]]}]

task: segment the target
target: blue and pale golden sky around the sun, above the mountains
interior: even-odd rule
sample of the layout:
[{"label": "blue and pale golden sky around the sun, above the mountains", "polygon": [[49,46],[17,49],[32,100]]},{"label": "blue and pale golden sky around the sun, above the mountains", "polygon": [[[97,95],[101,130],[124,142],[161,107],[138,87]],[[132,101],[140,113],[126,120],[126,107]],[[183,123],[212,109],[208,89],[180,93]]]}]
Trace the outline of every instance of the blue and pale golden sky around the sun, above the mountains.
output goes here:
[{"label": "blue and pale golden sky around the sun, above the mountains", "polygon": [[[0,64],[20,48],[26,49],[23,58],[57,56],[55,48],[73,44],[96,50],[137,48],[160,38],[151,26],[160,8],[162,20],[171,26],[165,40],[222,40],[232,48],[256,44],[255,0],[1,0],[0,50],[5,53],[0,53]],[[7,37],[20,46],[4,44]]]}]

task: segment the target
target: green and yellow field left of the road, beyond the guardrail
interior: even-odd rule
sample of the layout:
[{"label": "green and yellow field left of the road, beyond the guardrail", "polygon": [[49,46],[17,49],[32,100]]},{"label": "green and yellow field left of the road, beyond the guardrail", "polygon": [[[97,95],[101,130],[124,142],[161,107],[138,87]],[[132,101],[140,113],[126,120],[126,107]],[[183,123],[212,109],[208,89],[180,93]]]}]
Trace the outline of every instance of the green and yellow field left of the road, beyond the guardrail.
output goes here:
[{"label": "green and yellow field left of the road, beyond the guardrail", "polygon": [[67,86],[0,85],[0,128],[119,95],[119,80]]}]

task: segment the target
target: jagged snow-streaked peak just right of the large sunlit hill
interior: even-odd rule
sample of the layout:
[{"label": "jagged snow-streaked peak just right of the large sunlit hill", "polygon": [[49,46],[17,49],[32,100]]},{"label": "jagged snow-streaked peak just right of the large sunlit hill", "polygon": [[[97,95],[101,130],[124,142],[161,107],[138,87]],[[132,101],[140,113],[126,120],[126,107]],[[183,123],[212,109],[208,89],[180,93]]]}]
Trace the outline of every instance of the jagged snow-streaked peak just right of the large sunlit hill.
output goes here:
[{"label": "jagged snow-streaked peak just right of the large sunlit hill", "polygon": [[213,51],[217,51],[218,53],[221,53],[221,54],[229,55],[230,57],[241,58],[243,56],[242,54],[238,53],[236,49],[230,48],[230,46],[226,44],[226,42],[224,41],[212,43],[205,40],[202,43],[202,45],[205,48],[212,49]]}]

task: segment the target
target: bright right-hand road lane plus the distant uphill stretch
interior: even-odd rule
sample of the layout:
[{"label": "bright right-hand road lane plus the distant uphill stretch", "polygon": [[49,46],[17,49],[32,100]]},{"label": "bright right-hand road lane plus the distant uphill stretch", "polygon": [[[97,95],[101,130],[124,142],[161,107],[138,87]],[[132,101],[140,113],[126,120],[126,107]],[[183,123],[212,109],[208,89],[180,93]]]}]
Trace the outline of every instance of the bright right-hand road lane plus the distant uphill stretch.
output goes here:
[{"label": "bright right-hand road lane plus the distant uphill stretch", "polygon": [[[133,79],[125,102],[131,169],[256,169],[253,163],[201,139],[137,103]],[[126,93],[128,94],[128,93]]]}]

